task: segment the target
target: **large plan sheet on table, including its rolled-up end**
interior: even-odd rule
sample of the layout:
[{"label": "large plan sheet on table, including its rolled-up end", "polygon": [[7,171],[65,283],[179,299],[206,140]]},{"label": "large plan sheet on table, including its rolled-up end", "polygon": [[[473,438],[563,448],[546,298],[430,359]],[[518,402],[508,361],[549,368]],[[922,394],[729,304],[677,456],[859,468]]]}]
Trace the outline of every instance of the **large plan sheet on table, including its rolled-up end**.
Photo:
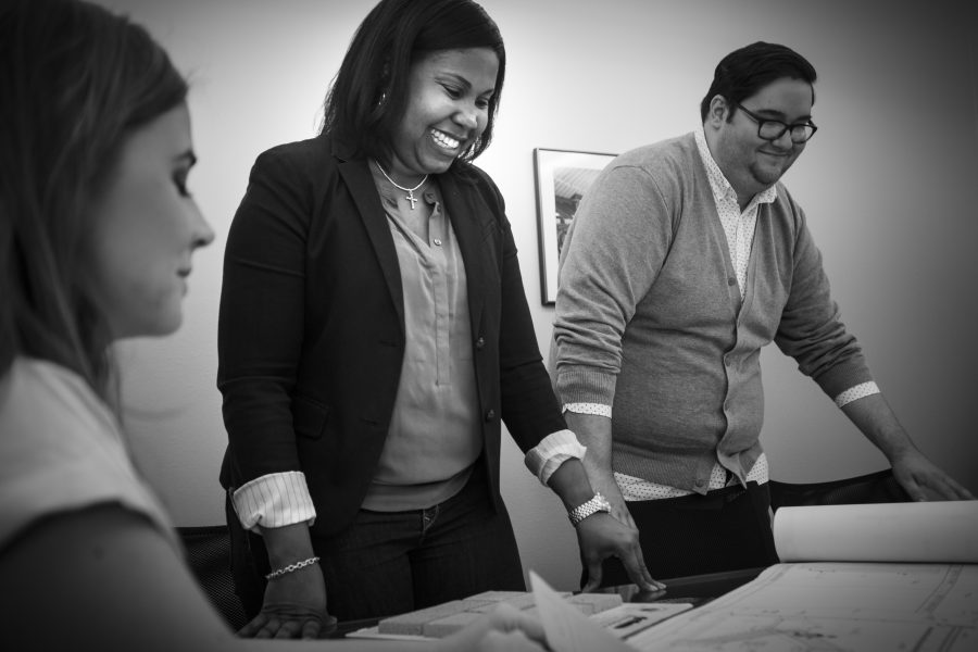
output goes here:
[{"label": "large plan sheet on table, including its rolled-up end", "polygon": [[628,643],[669,652],[978,650],[978,501],[781,507],[774,530],[778,555],[797,563]]}]

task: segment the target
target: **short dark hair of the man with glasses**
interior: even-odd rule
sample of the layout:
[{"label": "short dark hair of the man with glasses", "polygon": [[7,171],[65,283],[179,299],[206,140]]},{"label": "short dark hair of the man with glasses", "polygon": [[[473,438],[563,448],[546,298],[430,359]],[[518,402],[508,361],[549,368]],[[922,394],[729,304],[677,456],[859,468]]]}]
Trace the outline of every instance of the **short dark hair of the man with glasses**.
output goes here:
[{"label": "short dark hair of the man with glasses", "polygon": [[788,77],[801,79],[812,86],[812,103],[815,103],[815,67],[808,61],[785,46],[757,41],[734,50],[723,58],[713,73],[713,84],[706,97],[700,102],[700,118],[706,121],[710,102],[722,96],[730,105],[730,117],[736,110],[735,104],[778,79]]}]

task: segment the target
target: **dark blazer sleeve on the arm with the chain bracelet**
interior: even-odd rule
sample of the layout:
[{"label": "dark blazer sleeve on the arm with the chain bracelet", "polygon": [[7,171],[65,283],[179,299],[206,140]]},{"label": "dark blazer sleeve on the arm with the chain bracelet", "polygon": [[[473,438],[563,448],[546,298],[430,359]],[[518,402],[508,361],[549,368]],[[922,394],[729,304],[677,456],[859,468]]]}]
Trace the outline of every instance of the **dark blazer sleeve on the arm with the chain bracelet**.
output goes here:
[{"label": "dark blazer sleeve on the arm with the chain bracelet", "polygon": [[[302,156],[261,154],[227,239],[217,324],[217,387],[233,482],[300,471],[291,396],[302,348],[313,200]],[[304,164],[304,165],[303,165]]]}]

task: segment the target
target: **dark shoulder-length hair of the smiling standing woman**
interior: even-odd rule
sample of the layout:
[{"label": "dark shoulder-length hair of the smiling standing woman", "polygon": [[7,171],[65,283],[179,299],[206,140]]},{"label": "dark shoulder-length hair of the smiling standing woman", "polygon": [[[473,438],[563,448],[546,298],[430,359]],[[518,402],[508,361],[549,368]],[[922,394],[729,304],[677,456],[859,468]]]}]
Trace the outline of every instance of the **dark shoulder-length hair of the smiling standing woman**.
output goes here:
[{"label": "dark shoulder-length hair of the smiling standing woman", "polygon": [[496,23],[472,0],[381,0],[374,7],[326,96],[323,131],[356,155],[387,160],[408,105],[411,64],[431,52],[467,48],[490,48],[499,57],[486,129],[460,156],[473,161],[492,140],[506,51]]}]

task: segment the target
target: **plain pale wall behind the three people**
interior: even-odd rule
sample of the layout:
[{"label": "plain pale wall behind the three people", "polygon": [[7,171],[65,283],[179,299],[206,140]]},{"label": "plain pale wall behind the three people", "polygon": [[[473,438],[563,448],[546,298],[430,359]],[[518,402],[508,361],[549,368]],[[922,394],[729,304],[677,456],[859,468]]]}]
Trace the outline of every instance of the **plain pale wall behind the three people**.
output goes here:
[{"label": "plain pale wall behind the three people", "polygon": [[[192,82],[200,164],[191,190],[217,234],[198,254],[184,328],[123,347],[138,463],[180,525],[221,522],[225,443],[216,372],[224,240],[254,156],[315,133],[318,109],[372,1],[101,0],[171,50]],[[968,2],[485,0],[506,40],[497,138],[480,164],[509,205],[537,336],[532,150],[620,152],[692,129],[717,61],[763,39],[819,72],[820,130],[787,181],[805,206],[850,328],[919,447],[978,492],[978,39]],[[799,481],[885,466],[794,365],[763,358],[772,473]],[[560,502],[506,443],[503,493],[524,563],[576,588]]]}]

